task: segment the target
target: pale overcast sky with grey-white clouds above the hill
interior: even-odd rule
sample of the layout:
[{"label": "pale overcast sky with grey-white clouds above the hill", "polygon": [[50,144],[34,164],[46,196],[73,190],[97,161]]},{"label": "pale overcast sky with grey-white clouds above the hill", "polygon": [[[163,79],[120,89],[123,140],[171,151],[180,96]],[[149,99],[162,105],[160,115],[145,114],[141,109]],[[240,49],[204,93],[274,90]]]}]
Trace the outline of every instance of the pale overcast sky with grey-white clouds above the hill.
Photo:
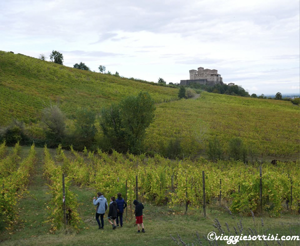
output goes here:
[{"label": "pale overcast sky with grey-white clouds above the hill", "polygon": [[57,50],[66,66],[167,83],[202,66],[250,94],[299,93],[299,0],[0,0],[0,9],[0,50]]}]

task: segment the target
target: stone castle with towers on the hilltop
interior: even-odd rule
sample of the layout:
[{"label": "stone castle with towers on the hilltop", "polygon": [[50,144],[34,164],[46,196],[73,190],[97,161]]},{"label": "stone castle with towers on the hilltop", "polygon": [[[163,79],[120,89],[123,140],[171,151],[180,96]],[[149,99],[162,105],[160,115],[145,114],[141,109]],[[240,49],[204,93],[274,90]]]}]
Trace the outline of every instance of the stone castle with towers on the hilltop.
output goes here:
[{"label": "stone castle with towers on the hilltop", "polygon": [[189,79],[180,80],[180,85],[188,85],[190,83],[199,83],[206,85],[223,84],[223,79],[216,69],[204,69],[198,67],[198,70],[189,70]]}]

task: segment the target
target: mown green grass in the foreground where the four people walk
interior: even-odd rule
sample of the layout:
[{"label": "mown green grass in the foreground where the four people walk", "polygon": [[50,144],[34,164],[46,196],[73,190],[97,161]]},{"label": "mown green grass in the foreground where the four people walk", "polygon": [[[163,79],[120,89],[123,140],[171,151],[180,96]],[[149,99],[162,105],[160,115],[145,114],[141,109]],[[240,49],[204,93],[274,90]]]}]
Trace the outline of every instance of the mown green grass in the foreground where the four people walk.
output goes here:
[{"label": "mown green grass in the foreground where the four people walk", "polygon": [[[26,156],[29,148],[22,147],[21,157]],[[2,245],[98,245],[98,244],[115,244],[122,245],[176,245],[170,235],[175,238],[177,233],[185,243],[192,243],[196,240],[195,233],[198,232],[203,245],[210,245],[203,235],[215,230],[212,226],[217,218],[223,229],[227,231],[225,222],[228,223],[230,231],[234,234],[234,228],[238,228],[241,223],[244,231],[249,227],[255,229],[258,234],[276,234],[278,235],[299,235],[300,223],[299,215],[295,213],[282,213],[280,217],[270,217],[264,214],[260,217],[253,218],[249,216],[241,217],[234,214],[234,219],[223,208],[217,205],[209,205],[207,207],[206,218],[203,217],[199,209],[188,209],[186,215],[183,206],[154,206],[148,202],[144,202],[144,226],[145,233],[136,233],[134,225],[134,215],[127,210],[127,217],[122,228],[112,230],[107,222],[107,214],[104,217],[104,230],[98,230],[94,219],[94,206],[92,205],[92,197],[96,190],[71,186],[71,190],[77,194],[79,203],[79,214],[82,223],[79,226],[79,232],[69,228],[67,233],[65,230],[56,231],[55,234],[50,233],[50,223],[44,222],[47,219],[46,206],[50,200],[49,191],[45,185],[45,179],[42,177],[43,172],[43,149],[36,148],[37,164],[35,173],[31,176],[31,183],[28,187],[28,193],[22,198],[18,204],[20,220],[16,222],[13,230],[4,231],[0,234],[0,244]],[[50,153],[55,155],[56,150],[50,149]],[[66,151],[66,155],[70,155]],[[262,226],[263,222],[263,226]],[[220,241],[219,244],[222,245]],[[282,242],[281,242],[282,243]],[[224,244],[225,245],[225,244]],[[244,245],[244,244],[240,244]],[[263,245],[255,244],[249,245]],[[277,242],[268,245],[277,245]],[[298,245],[298,242],[287,242],[282,245]]]}]

